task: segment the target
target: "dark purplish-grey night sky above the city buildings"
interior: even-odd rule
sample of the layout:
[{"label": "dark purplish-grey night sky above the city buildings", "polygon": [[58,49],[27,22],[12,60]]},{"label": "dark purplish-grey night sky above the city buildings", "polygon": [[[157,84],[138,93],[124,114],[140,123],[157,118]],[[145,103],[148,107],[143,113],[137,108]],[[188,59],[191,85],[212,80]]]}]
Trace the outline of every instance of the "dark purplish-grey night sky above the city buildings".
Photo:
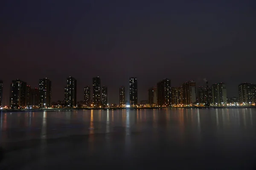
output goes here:
[{"label": "dark purplish-grey night sky above the city buildings", "polygon": [[[99,76],[109,103],[119,86],[138,79],[138,99],[163,79],[224,82],[238,96],[256,83],[255,0],[2,0],[0,79],[9,102],[12,79],[38,87],[52,81],[52,101],[64,99],[69,76],[83,88]],[[127,95],[128,96],[128,95]]]}]

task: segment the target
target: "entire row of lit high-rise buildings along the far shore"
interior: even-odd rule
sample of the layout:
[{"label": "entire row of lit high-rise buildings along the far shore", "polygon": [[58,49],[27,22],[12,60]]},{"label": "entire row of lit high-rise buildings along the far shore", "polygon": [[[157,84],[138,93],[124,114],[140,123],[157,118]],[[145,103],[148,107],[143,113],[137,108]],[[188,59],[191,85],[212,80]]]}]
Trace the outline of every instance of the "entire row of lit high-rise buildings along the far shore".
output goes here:
[{"label": "entire row of lit high-rise buildings along the far shore", "polygon": [[[137,78],[129,78],[129,101],[126,101],[125,87],[119,88],[119,105],[108,104],[108,88],[101,87],[99,77],[93,77],[91,88],[84,88],[84,100],[77,102],[77,81],[74,77],[67,78],[64,88],[64,101],[51,102],[52,83],[49,79],[39,80],[39,88],[31,88],[20,79],[13,80],[10,85],[9,108],[108,108],[108,107],[186,107],[186,106],[227,106],[255,105],[256,85],[241,83],[239,98],[227,98],[226,85],[218,84],[199,86],[193,80],[184,82],[179,87],[172,87],[170,79],[163,79],[148,89],[148,100],[138,103]],[[0,80],[0,106],[3,100],[3,81]]]}]

